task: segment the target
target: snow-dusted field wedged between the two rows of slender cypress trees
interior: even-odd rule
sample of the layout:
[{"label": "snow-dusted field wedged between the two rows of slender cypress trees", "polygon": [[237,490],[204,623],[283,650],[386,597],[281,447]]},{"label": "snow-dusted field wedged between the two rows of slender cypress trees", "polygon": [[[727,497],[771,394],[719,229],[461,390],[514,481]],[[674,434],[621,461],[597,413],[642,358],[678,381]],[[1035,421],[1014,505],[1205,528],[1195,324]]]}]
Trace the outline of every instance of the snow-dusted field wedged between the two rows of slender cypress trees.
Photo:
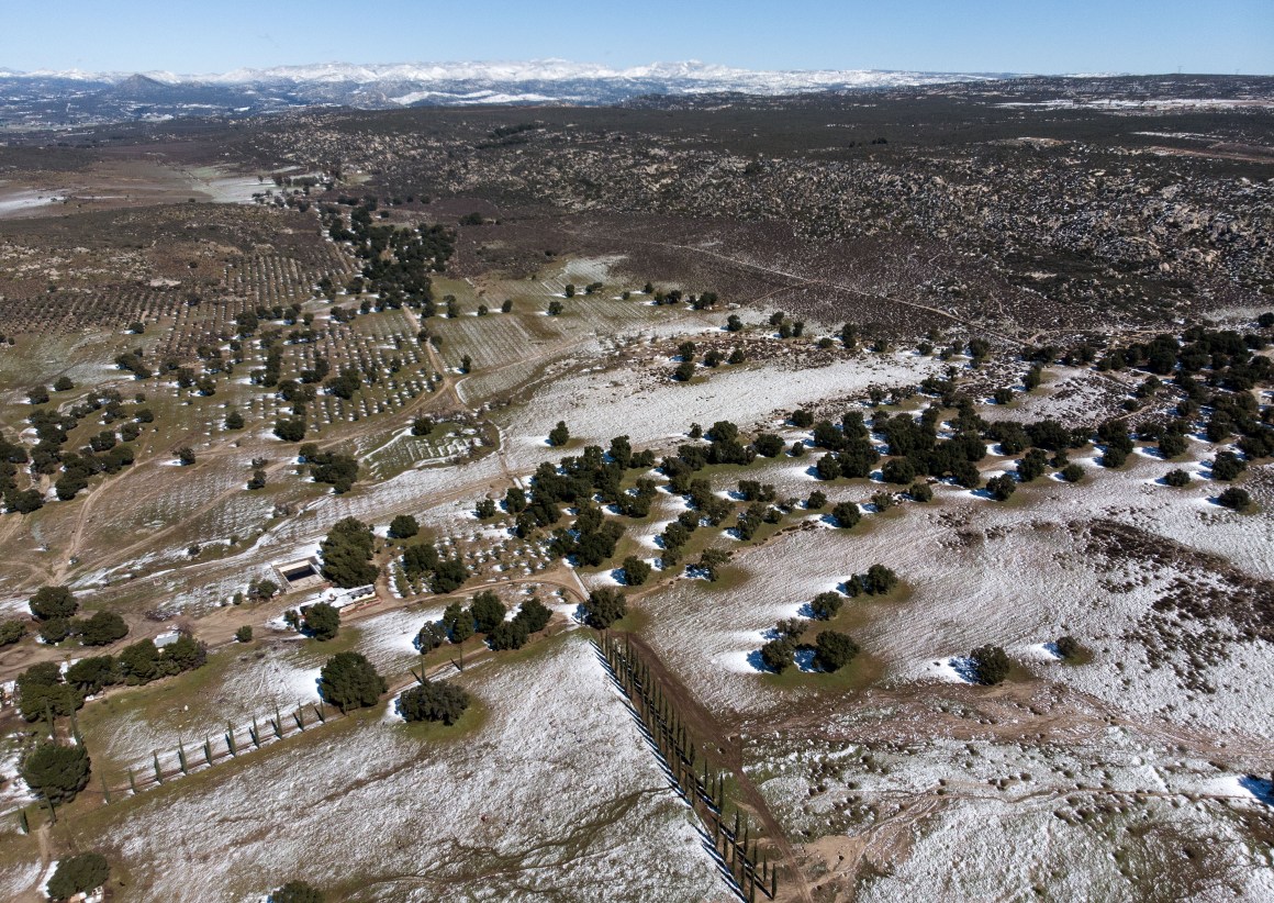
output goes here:
[{"label": "snow-dusted field wedged between the two rows of slender cypress trees", "polygon": [[144,795],[111,828],[134,890],[246,899],[304,876],[366,900],[730,899],[581,634],[464,683],[488,709],[475,735],[320,729]]}]

